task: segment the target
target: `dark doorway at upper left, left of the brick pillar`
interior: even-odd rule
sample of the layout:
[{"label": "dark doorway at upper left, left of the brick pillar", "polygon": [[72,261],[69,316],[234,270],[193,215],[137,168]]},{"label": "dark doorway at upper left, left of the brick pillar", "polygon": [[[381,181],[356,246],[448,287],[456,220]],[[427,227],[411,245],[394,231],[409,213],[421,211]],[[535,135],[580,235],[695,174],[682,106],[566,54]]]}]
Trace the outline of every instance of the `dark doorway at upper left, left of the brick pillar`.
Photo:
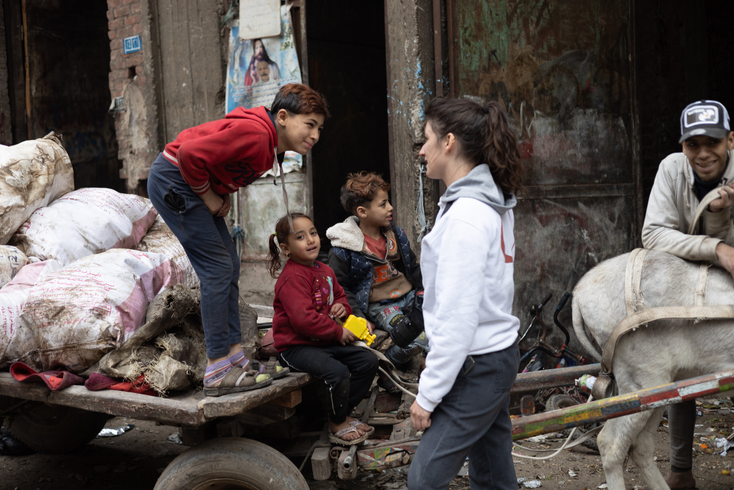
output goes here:
[{"label": "dark doorway at upper left, left of the brick pillar", "polygon": [[76,188],[124,192],[108,112],[106,3],[4,0],[2,7],[12,130],[12,143],[3,143],[56,131],[64,137]]}]

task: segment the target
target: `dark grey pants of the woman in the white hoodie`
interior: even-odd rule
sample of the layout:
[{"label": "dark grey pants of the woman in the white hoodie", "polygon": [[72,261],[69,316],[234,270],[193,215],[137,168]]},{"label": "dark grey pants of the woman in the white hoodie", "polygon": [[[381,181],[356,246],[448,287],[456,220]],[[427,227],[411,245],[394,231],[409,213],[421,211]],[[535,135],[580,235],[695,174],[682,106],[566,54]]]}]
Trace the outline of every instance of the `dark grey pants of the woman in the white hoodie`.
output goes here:
[{"label": "dark grey pants of the woman in the white hoodie", "polygon": [[508,407],[520,351],[512,345],[473,357],[473,369],[459,372],[431,414],[410,464],[410,490],[448,489],[467,456],[471,490],[517,490]]}]

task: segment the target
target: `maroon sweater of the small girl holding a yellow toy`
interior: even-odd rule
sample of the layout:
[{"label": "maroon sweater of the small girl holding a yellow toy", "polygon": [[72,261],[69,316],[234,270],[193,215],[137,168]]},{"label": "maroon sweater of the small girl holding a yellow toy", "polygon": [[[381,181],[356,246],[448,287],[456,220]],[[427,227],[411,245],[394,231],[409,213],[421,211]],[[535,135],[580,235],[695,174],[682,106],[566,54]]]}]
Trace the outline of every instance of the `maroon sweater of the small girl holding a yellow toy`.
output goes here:
[{"label": "maroon sweater of the small girl holding a yellow toy", "polygon": [[352,314],[344,289],[327,264],[307,267],[288,260],[275,282],[273,341],[278,352],[294,345],[334,345],[342,328],[329,318],[333,303]]}]

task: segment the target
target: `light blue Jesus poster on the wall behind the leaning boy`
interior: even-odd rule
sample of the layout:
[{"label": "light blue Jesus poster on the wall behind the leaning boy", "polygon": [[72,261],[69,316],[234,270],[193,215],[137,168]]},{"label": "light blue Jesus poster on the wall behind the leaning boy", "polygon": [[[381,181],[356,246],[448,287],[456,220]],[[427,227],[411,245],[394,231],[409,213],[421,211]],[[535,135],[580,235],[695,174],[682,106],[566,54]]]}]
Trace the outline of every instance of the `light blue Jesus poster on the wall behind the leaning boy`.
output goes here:
[{"label": "light blue Jesus poster on the wall behind the leaning boy", "polygon": [[[240,26],[235,24],[230,29],[227,112],[236,107],[270,107],[281,86],[301,83],[290,5],[280,7],[279,36],[243,40],[239,37]],[[302,156],[296,153],[286,156],[283,172],[300,170]]]}]

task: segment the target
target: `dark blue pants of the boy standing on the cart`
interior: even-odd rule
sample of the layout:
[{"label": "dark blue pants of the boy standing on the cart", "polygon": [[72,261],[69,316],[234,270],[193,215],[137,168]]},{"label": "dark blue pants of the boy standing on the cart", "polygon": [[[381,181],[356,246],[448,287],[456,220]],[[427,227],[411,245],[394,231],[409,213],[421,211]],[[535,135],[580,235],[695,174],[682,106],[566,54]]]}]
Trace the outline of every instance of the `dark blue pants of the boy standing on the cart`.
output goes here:
[{"label": "dark blue pants of the boy standing on the cart", "polygon": [[239,256],[224,218],[211,215],[178,167],[163,155],[150,167],[148,197],[199,275],[206,356],[229,356],[230,344],[242,342],[242,334]]}]

